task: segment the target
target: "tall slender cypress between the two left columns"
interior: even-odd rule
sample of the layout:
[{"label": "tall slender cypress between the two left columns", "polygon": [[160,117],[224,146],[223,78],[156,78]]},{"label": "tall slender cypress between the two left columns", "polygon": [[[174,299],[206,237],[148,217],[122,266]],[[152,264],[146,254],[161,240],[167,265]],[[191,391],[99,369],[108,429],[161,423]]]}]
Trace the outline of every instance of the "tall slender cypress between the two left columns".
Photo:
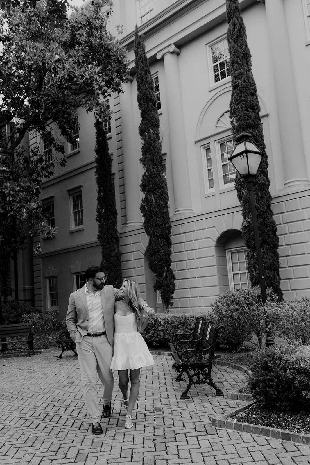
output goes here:
[{"label": "tall slender cypress between the two left columns", "polygon": [[143,226],[148,236],[146,258],[155,275],[154,290],[159,291],[165,311],[173,305],[175,276],[171,269],[171,224],[168,210],[168,193],[162,173],[163,158],[159,138],[157,100],[145,53],[143,37],[135,31],[135,65],[137,68],[137,100],[141,113],[139,134],[142,140],[140,159],[144,173],[140,188],[144,193],[141,202]]}]

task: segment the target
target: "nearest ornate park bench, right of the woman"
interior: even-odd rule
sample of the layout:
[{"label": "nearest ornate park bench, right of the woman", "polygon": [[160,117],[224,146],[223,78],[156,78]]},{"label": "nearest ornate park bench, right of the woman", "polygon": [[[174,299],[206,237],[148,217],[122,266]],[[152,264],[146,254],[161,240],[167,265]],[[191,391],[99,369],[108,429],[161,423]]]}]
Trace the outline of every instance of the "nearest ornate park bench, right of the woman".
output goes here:
[{"label": "nearest ornate park bench, right of the woman", "polygon": [[[181,394],[181,399],[190,399],[188,395],[192,385],[208,384],[216,391],[216,396],[223,396],[223,392],[218,388],[211,378],[212,361],[218,333],[223,331],[224,326],[212,326],[209,323],[204,325],[201,340],[197,342],[186,341],[186,346],[178,348],[176,344],[174,352],[171,355],[174,359],[174,368],[179,373],[176,381],[182,380],[183,373],[187,374],[188,384],[185,391]],[[197,347],[199,343],[199,348]]]}]

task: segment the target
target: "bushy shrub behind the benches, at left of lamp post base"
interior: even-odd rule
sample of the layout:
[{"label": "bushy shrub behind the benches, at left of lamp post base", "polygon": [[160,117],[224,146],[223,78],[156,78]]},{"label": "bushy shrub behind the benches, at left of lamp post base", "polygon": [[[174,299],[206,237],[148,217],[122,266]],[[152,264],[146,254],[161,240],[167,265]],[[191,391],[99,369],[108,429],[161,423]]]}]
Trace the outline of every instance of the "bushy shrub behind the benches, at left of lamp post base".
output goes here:
[{"label": "bushy shrub behind the benches, at left of lamp post base", "polygon": [[[277,295],[271,288],[267,289],[267,299],[277,300]],[[252,339],[254,333],[257,344],[262,346],[266,327],[259,286],[224,292],[211,304],[211,308],[211,319],[216,321],[217,326],[225,326],[224,331],[219,334],[219,342],[237,351],[244,342],[255,343]]]}]

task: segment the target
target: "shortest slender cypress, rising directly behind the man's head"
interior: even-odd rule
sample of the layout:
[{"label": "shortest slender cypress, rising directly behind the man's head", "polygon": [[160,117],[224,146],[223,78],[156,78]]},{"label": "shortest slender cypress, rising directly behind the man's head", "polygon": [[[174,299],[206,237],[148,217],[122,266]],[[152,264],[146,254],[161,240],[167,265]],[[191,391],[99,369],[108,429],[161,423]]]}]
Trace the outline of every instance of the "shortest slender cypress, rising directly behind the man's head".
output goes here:
[{"label": "shortest slender cypress, rising directly behind the man's head", "polygon": [[95,122],[96,129],[96,182],[98,236],[101,246],[101,266],[108,274],[108,283],[114,287],[122,284],[121,254],[117,230],[117,210],[112,179],[112,160],[103,123]]}]

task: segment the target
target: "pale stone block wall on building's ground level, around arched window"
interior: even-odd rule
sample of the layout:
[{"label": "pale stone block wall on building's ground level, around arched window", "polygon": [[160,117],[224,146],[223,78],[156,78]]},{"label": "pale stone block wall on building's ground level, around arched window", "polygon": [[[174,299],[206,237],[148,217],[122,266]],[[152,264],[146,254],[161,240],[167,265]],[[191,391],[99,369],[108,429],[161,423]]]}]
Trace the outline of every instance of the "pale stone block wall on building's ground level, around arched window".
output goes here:
[{"label": "pale stone block wall on building's ground level, around arched window", "polygon": [[[284,298],[310,297],[310,189],[277,195],[272,209],[280,241]],[[228,290],[224,243],[230,232],[241,230],[241,225],[240,206],[171,222],[176,275],[171,312],[209,311],[218,294]],[[143,229],[120,234],[123,276],[134,276],[142,292],[147,284],[146,241]]]}]

